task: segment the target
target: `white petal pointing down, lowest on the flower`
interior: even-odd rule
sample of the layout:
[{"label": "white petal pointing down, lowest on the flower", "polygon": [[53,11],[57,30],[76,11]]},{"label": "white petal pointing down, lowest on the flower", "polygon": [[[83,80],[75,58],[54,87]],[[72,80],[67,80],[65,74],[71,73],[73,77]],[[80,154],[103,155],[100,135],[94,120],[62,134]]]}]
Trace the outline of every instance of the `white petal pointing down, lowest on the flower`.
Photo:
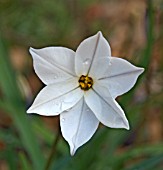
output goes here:
[{"label": "white petal pointing down, lowest on the flower", "polygon": [[82,98],[71,110],[60,114],[62,135],[70,145],[71,155],[95,133],[99,121]]}]

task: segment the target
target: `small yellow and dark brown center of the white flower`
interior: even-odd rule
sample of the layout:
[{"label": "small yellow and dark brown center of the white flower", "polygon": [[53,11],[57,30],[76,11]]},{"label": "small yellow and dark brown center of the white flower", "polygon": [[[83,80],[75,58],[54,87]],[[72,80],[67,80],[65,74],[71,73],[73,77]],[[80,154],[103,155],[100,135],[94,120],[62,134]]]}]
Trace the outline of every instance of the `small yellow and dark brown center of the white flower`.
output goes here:
[{"label": "small yellow and dark brown center of the white flower", "polygon": [[79,78],[79,86],[82,90],[87,91],[93,86],[93,79],[88,76],[82,75]]}]

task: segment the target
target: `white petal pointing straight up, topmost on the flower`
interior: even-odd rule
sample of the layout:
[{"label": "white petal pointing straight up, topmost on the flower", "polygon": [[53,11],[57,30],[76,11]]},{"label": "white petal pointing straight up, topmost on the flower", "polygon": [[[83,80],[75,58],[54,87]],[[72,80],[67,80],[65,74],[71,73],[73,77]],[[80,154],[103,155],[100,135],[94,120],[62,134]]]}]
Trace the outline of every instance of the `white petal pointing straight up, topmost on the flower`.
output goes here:
[{"label": "white petal pointing straight up, topmost on the flower", "polygon": [[75,71],[78,76],[94,71],[94,61],[100,57],[111,56],[109,43],[101,32],[85,39],[75,54]]}]

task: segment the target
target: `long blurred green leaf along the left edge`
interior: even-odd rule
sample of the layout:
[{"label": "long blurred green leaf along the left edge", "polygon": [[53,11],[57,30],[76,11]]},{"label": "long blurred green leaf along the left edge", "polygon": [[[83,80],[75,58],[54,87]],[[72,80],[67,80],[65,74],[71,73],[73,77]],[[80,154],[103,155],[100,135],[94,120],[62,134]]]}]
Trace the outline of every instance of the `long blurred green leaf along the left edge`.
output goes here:
[{"label": "long blurred green leaf along the left edge", "polygon": [[44,158],[34,135],[30,123],[31,120],[29,120],[29,117],[25,113],[25,103],[21,98],[16,76],[9,62],[6,44],[1,37],[0,87],[3,94],[3,100],[0,101],[0,108],[9,113],[13,119],[20,139],[33,162],[34,169],[42,170],[44,167]]}]

